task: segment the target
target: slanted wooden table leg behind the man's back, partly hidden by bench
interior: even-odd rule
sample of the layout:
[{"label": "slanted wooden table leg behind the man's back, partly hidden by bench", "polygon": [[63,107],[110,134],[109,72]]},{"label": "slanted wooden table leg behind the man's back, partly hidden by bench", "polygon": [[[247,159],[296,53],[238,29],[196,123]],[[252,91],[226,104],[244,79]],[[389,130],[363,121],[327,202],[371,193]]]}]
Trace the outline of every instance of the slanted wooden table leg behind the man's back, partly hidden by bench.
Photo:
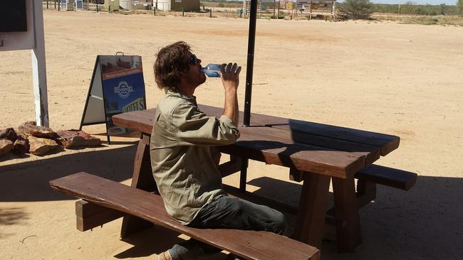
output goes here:
[{"label": "slanted wooden table leg behind the man's back, partly hidden by bench", "polygon": [[[157,191],[155,179],[152,177],[150,160],[150,136],[142,134],[138,142],[137,153],[133,166],[132,187],[150,192]],[[130,236],[152,227],[152,223],[139,217],[127,215],[123,218],[123,226],[120,230],[120,238]]]}]

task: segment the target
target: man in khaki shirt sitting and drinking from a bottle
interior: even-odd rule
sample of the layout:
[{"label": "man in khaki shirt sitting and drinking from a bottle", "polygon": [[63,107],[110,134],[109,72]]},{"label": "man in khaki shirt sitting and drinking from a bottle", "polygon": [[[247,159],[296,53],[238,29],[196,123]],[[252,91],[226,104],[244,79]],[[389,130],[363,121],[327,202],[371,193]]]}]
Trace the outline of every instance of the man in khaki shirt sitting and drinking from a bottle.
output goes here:
[{"label": "man in khaki shirt sitting and drinking from a bottle", "polygon": [[[241,67],[223,64],[224,113],[208,117],[197,107],[194,90],[206,81],[201,60],[187,43],[162,48],[155,61],[155,80],[166,94],[157,104],[150,156],[152,173],[167,213],[189,227],[267,230],[283,234],[284,215],[269,207],[227,196],[217,168],[214,146],[239,138],[238,99]],[[220,251],[190,239],[158,259],[197,259]]]}]

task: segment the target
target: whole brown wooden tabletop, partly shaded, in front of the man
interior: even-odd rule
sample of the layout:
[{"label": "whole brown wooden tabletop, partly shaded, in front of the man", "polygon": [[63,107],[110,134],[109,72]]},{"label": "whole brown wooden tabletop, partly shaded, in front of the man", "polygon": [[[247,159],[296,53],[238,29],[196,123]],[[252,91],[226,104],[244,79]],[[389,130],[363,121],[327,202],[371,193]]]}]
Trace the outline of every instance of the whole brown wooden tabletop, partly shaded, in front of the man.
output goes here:
[{"label": "whole brown wooden tabletop, partly shaded, in front of the man", "polygon": [[[215,117],[223,112],[205,105],[199,109]],[[151,134],[154,117],[155,109],[147,109],[115,115],[113,123]],[[337,178],[355,174],[400,143],[398,136],[264,114],[251,114],[251,126],[239,130],[239,140],[221,146],[222,152]]]}]

